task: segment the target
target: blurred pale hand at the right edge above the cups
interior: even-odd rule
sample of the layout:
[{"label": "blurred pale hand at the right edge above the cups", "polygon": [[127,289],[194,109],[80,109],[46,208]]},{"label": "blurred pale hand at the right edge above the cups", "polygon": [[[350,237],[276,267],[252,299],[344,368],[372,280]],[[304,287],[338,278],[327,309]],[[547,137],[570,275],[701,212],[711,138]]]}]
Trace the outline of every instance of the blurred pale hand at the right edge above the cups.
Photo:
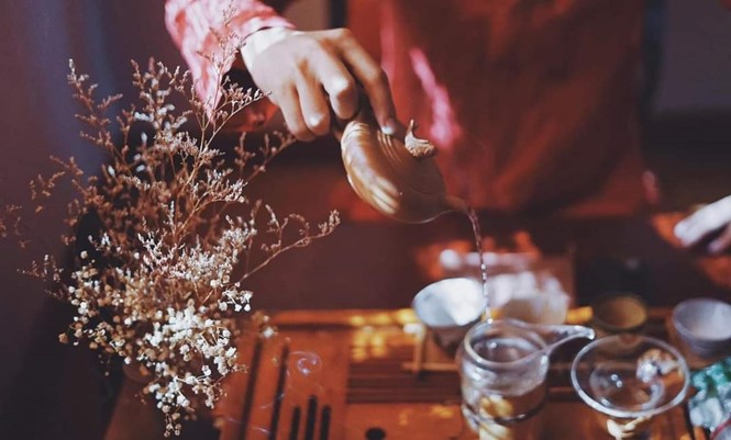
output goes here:
[{"label": "blurred pale hand at the right edge above the cups", "polygon": [[684,246],[690,247],[720,228],[723,228],[721,235],[708,245],[710,252],[718,253],[731,247],[731,195],[678,222],[675,236]]}]

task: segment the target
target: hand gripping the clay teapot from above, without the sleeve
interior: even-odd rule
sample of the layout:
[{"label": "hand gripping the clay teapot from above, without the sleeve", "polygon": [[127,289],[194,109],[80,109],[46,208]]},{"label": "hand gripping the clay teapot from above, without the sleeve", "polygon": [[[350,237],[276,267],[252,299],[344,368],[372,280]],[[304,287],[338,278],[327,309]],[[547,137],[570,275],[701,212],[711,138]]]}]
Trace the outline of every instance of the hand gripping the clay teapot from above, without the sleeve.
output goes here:
[{"label": "hand gripping the clay teapot from above, without the sleeve", "polygon": [[300,140],[330,133],[332,115],[352,119],[361,89],[381,129],[397,128],[388,79],[348,30],[264,30],[246,40],[242,54],[256,86],[270,93]]}]

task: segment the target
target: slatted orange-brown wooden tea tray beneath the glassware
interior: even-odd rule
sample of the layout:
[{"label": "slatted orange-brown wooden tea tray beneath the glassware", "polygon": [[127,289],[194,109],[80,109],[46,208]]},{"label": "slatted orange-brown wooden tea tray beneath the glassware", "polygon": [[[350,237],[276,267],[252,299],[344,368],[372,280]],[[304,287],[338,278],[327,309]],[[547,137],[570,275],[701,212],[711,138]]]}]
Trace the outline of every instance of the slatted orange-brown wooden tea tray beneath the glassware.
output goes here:
[{"label": "slatted orange-brown wooden tea tray beneath the glassware", "polygon": [[[569,320],[583,321],[588,314],[586,308],[572,311]],[[646,334],[667,339],[667,308],[654,308]],[[240,343],[242,359],[254,363],[225,385],[226,397],[215,413],[220,440],[355,440],[366,439],[373,429],[381,429],[389,440],[476,438],[463,424],[456,372],[414,373],[408,368],[417,361],[421,340],[411,311],[283,312],[273,321],[277,336],[262,340],[248,335]],[[427,338],[424,361],[448,364],[452,353],[440,353]],[[610,439],[571,387],[571,359],[579,347],[552,358],[544,440]],[[308,424],[313,402],[317,411]],[[330,422],[323,433],[325,407]],[[655,418],[651,438],[704,437],[694,437],[679,406]]]}]

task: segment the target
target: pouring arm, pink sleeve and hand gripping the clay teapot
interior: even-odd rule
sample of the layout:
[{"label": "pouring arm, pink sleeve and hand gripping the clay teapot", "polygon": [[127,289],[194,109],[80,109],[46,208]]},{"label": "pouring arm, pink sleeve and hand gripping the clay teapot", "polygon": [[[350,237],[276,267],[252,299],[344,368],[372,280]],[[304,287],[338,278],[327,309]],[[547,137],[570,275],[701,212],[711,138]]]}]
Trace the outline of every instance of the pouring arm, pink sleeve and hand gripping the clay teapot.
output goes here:
[{"label": "pouring arm, pink sleeve and hand gripping the clay teapot", "polygon": [[[168,0],[168,31],[211,99],[220,75],[198,54],[220,55],[217,34],[226,31],[225,7],[214,0]],[[359,108],[359,90],[386,133],[397,128],[388,80],[347,30],[296,32],[276,11],[258,1],[239,0],[229,30],[246,38],[243,58],[256,86],[281,109],[287,126],[301,140],[330,132],[332,115],[348,120]],[[211,32],[212,30],[212,32]],[[233,63],[225,70],[236,67]],[[240,65],[244,68],[243,63]]]}]

